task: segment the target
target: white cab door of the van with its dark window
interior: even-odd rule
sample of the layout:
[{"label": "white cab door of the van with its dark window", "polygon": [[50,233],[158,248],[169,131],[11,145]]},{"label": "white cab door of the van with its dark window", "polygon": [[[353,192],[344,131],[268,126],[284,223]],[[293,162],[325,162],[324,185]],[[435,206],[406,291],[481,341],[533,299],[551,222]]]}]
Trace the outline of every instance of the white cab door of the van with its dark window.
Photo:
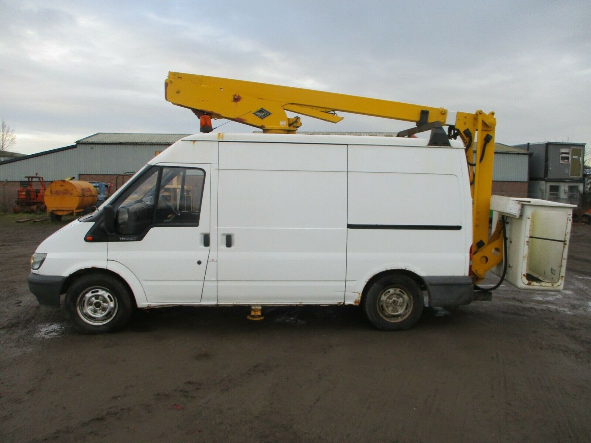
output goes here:
[{"label": "white cab door of the van with its dark window", "polygon": [[210,250],[210,168],[153,166],[113,204],[116,236],[108,260],[135,274],[148,303],[201,301]]}]

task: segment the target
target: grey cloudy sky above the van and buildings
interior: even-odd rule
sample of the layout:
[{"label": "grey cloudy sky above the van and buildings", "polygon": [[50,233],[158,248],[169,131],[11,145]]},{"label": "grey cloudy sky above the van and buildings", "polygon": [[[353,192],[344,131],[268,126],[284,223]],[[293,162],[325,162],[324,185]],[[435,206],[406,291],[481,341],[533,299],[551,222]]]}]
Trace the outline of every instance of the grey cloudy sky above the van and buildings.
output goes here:
[{"label": "grey cloudy sky above the van and buildings", "polygon": [[0,0],[0,118],[23,153],[96,132],[198,132],[189,110],[164,100],[168,71],[179,71],[494,110],[498,142],[589,143],[590,17],[588,0]]}]

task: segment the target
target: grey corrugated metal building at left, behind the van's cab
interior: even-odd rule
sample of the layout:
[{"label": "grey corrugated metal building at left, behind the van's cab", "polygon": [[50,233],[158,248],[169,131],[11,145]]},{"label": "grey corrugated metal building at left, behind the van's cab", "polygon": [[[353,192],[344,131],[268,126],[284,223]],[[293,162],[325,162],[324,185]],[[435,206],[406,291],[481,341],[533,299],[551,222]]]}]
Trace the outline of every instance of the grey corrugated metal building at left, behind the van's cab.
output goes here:
[{"label": "grey corrugated metal building at left, behind the van's cab", "polygon": [[[27,175],[38,173],[47,184],[66,177],[116,183],[119,175],[137,171],[157,152],[188,135],[97,133],[76,145],[5,160],[0,162],[0,209],[12,208]],[[125,181],[120,179],[116,184]]]}]

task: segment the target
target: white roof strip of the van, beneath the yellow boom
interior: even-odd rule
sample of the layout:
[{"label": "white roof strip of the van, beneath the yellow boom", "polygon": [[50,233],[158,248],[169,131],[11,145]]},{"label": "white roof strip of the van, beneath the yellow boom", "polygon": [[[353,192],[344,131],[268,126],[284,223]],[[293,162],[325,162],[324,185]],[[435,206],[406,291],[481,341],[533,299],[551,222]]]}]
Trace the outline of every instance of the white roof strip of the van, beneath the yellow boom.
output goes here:
[{"label": "white roof strip of the van, beneath the yellow boom", "polygon": [[[386,145],[426,147],[428,139],[408,137],[376,137],[357,135],[325,135],[325,134],[263,134],[263,133],[209,133],[193,134],[179,140],[224,140],[226,142],[261,142],[261,143],[314,143],[316,145]],[[463,149],[460,140],[450,140],[452,148]]]}]

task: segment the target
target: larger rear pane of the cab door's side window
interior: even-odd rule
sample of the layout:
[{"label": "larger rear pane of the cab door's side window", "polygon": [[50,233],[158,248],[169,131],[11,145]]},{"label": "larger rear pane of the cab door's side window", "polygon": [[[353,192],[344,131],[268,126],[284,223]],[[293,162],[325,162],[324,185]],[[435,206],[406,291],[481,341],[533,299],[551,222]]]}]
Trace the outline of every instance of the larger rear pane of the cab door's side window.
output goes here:
[{"label": "larger rear pane of the cab door's side window", "polygon": [[163,168],[156,224],[199,225],[204,179],[202,169]]}]

